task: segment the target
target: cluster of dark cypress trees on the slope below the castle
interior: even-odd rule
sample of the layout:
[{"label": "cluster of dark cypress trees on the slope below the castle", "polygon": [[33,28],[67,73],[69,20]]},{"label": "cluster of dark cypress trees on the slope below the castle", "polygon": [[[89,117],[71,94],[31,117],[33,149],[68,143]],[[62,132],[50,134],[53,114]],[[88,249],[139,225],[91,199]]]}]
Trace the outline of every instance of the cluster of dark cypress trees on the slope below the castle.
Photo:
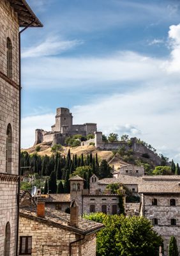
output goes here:
[{"label": "cluster of dark cypress trees on the slope below the castle", "polygon": [[[38,173],[40,176],[49,176],[45,182],[44,193],[70,193],[70,175],[76,171],[79,174],[79,170],[83,169],[82,178],[85,180],[85,188],[89,188],[89,178],[93,173],[98,177],[105,178],[111,177],[111,169],[106,160],[102,160],[99,164],[98,154],[94,156],[92,153],[81,154],[77,157],[77,154],[71,157],[70,149],[67,156],[61,156],[58,152],[52,156],[39,156],[37,153],[28,154],[24,151],[21,153],[21,167],[27,167],[27,171],[30,173]],[[89,168],[87,168],[89,166]],[[24,175],[26,168],[22,168],[21,175]],[[57,182],[59,180],[59,182]],[[62,182],[64,180],[64,182]],[[58,186],[57,186],[58,183]]]}]

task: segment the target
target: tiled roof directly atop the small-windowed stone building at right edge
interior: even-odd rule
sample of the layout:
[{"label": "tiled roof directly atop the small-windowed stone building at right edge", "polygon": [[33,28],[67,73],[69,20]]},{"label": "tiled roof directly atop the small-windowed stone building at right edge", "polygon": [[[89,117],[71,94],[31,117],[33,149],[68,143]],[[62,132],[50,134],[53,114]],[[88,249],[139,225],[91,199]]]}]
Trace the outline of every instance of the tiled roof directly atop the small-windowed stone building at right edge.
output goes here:
[{"label": "tiled roof directly atop the small-windowed stone building at right edge", "polygon": [[177,182],[140,184],[139,193],[180,193],[180,186]]}]

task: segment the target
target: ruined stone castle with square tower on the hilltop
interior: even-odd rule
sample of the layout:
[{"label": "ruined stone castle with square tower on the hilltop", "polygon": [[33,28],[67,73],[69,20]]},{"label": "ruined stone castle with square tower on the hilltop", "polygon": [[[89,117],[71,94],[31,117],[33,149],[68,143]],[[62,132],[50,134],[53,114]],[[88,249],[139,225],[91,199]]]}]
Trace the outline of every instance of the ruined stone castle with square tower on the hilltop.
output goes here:
[{"label": "ruined stone castle with square tower on the hilltop", "polygon": [[97,131],[97,125],[94,123],[73,124],[73,116],[68,108],[56,109],[56,124],[52,125],[52,131],[44,131],[36,129],[35,131],[35,145],[42,142],[52,141],[53,144],[62,144],[67,136],[81,134],[94,134]]}]

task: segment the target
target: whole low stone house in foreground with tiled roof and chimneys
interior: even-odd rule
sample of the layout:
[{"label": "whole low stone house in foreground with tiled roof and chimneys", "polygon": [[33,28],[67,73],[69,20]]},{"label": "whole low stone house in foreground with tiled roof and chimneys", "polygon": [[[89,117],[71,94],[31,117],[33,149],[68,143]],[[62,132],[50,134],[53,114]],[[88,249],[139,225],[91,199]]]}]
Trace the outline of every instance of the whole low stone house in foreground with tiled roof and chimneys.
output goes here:
[{"label": "whole low stone house in foreground with tiled roof and chimneys", "polygon": [[71,202],[70,214],[45,209],[25,195],[20,207],[19,255],[95,256],[96,232],[103,224],[79,217],[79,206]]}]

